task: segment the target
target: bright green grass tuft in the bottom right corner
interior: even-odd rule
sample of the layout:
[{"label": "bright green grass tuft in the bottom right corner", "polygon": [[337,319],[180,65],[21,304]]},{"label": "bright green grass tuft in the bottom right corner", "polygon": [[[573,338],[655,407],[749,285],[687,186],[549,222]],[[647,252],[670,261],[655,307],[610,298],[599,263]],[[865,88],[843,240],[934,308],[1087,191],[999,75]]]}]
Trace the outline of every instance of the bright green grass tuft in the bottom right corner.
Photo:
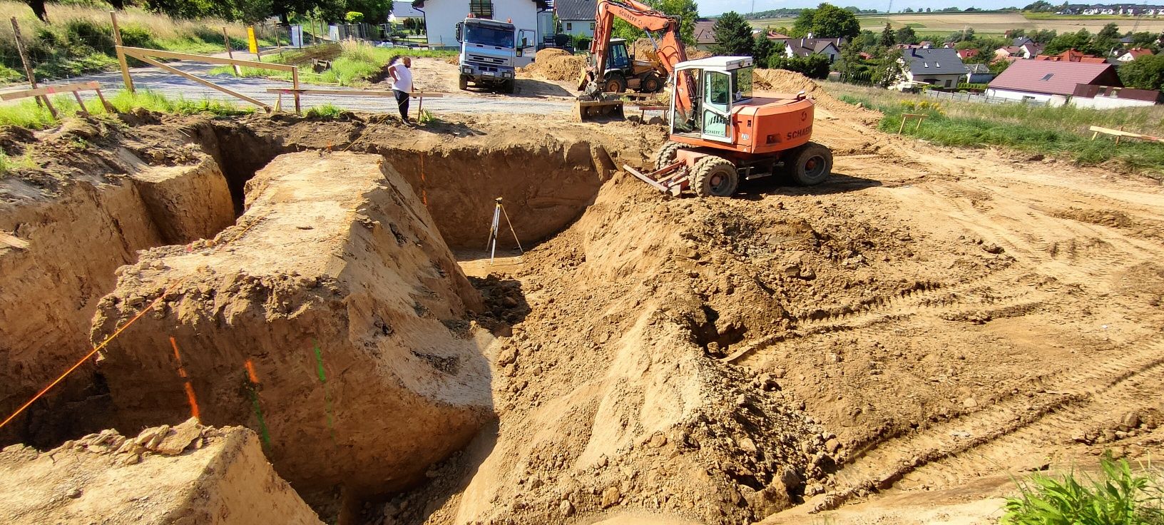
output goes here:
[{"label": "bright green grass tuft in the bottom right corner", "polygon": [[1164,492],[1151,471],[1134,473],[1127,460],[1103,457],[1098,478],[1067,473],[1035,475],[1007,498],[1002,525],[1159,525]]}]

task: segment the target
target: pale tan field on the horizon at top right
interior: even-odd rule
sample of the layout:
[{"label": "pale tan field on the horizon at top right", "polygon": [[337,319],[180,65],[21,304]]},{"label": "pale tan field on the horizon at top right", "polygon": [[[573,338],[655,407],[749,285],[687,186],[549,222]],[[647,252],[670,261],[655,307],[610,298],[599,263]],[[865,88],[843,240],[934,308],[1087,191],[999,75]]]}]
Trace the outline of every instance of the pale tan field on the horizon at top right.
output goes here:
[{"label": "pale tan field on the horizon at top right", "polygon": [[[1164,19],[1121,16],[1027,16],[1022,13],[895,13],[858,15],[861,29],[878,30],[889,22],[894,28],[913,27],[920,34],[953,33],[973,28],[978,34],[1003,34],[1008,29],[1055,29],[1059,33],[1087,29],[1095,33],[1115,21],[1121,30],[1164,31]],[[755,27],[790,27],[794,19],[753,20]]]}]

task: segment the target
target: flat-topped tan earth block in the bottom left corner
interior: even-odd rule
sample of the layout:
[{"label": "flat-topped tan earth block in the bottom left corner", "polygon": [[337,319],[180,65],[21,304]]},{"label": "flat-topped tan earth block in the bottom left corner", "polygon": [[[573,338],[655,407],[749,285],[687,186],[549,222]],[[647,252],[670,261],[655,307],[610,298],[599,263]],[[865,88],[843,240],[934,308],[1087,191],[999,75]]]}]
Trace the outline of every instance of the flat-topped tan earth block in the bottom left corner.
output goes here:
[{"label": "flat-topped tan earth block in the bottom left corner", "polygon": [[7,524],[251,524],[322,522],[275,474],[258,437],[190,419],[136,438],[102,431],[49,452],[0,452]]}]

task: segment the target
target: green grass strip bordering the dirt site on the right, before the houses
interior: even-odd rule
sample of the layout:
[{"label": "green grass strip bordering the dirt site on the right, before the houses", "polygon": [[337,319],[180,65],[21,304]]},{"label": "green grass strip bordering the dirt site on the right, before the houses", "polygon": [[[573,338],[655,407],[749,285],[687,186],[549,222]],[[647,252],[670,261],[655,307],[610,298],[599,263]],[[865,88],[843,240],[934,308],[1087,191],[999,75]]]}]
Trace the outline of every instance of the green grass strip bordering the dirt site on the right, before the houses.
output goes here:
[{"label": "green grass strip bordering the dirt site on the right, before the houses", "polygon": [[902,113],[925,113],[928,116],[920,128],[907,126],[904,133],[943,146],[995,146],[1055,155],[1079,164],[1114,162],[1129,172],[1164,178],[1164,146],[1135,140],[1116,146],[1108,137],[1092,141],[1087,130],[1088,126],[1123,126],[1129,132],[1159,136],[1164,133],[1164,108],[1161,107],[1091,109],[953,102],[839,83],[825,83],[824,86],[845,102],[883,113],[880,129],[886,133],[897,133]]}]

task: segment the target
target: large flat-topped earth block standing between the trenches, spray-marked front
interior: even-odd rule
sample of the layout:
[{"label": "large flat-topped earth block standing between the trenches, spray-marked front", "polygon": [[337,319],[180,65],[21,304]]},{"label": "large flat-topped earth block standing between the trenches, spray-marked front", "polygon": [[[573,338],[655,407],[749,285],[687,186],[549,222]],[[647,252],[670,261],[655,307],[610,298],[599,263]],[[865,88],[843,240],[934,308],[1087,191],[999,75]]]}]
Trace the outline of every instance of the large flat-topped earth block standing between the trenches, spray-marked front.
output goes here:
[{"label": "large flat-topped earth block standing between the trenches, spray-marked front", "polygon": [[197,405],[267,440],[297,489],[407,485],[490,417],[480,296],[411,186],[375,155],[277,157],[211,242],[144,254],[94,321],[118,427]]}]

